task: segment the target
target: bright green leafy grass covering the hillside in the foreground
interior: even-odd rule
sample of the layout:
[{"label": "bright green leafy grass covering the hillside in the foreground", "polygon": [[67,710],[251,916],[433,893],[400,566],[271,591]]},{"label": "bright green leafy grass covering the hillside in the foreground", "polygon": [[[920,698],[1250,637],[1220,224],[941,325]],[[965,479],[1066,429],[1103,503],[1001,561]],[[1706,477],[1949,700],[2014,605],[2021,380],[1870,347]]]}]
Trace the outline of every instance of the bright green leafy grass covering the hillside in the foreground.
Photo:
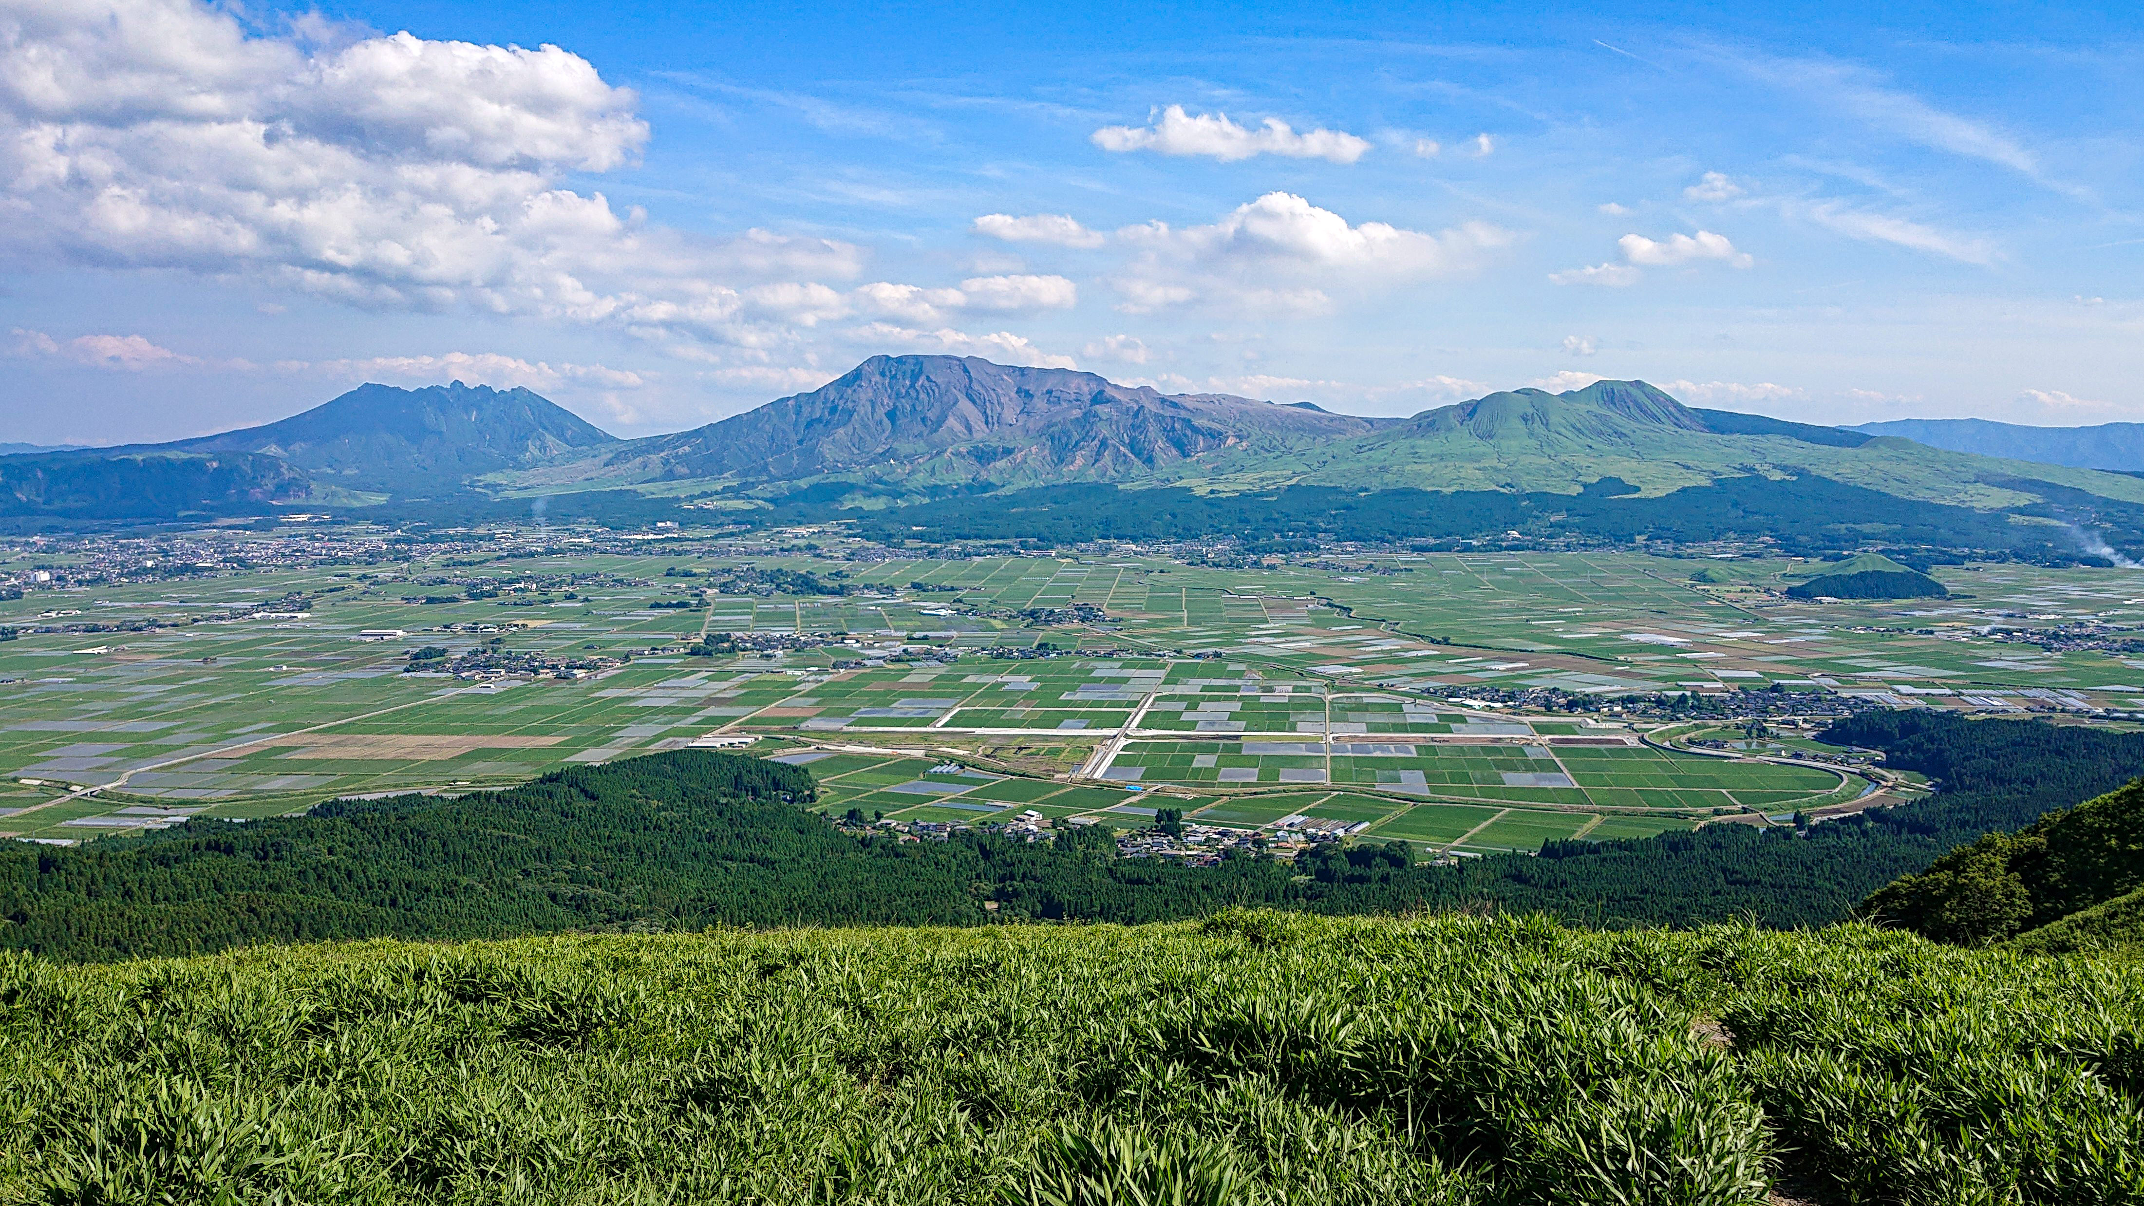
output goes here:
[{"label": "bright green leafy grass covering the hillside in the foreground", "polygon": [[2138,970],[1271,912],[6,955],[0,1202],[2138,1202]]}]

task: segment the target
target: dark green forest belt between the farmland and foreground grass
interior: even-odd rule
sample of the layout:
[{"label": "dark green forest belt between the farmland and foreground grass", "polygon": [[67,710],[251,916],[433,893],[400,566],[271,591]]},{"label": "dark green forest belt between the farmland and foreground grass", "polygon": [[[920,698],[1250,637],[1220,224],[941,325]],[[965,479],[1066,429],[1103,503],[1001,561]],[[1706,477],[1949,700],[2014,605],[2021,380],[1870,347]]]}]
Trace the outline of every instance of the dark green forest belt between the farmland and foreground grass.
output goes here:
[{"label": "dark green forest belt between the farmland and foreground grass", "polygon": [[[1990,830],[2144,775],[2144,734],[1872,712],[1831,740],[1942,783],[1859,818],[1552,841],[1539,856],[1404,865],[1357,845],[1304,867],[1119,858],[1098,830],[858,839],[806,811],[804,768],[675,751],[461,798],[337,800],[304,818],[193,820],[81,848],[0,852],[0,946],[62,959],[326,938],[502,938],[705,925],[1171,921],[1224,906],[1327,914],[1548,912],[1578,925],[1844,918]],[[995,910],[986,910],[995,903]]]}]

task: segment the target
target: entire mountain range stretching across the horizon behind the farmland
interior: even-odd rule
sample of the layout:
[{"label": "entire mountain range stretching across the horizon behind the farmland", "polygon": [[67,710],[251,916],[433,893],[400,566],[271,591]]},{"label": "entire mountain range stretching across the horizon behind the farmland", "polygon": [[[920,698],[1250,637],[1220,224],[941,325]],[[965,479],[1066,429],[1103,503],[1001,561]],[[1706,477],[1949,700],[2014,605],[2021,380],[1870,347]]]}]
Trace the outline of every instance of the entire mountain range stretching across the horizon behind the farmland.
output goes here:
[{"label": "entire mountain range stretching across the horizon behind the farmland", "polygon": [[[131,476],[154,479],[154,489],[129,485]],[[202,496],[174,502],[189,481]],[[1722,483],[1745,494],[1762,483],[1833,483],[2056,528],[2133,509],[2144,530],[2138,476],[1689,408],[1647,382],[1503,391],[1409,418],[1361,418],[973,356],[873,356],[821,388],[639,440],[617,440],[525,388],[367,384],[262,427],[0,455],[0,513],[88,517],[99,496],[129,491],[157,498],[122,509],[129,517],[425,498],[525,506],[534,496],[594,494],[652,506],[699,496],[763,509],[808,496],[881,509],[1068,483],[1201,498],[1413,489],[1548,502],[1604,489],[1662,498]]]}]

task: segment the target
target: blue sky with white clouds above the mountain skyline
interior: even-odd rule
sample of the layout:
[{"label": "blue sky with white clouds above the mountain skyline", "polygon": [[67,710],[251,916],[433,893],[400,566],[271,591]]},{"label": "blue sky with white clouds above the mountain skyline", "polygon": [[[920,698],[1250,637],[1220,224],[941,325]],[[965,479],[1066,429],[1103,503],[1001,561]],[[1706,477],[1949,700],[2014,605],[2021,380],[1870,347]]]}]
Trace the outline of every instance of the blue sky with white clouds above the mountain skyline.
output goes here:
[{"label": "blue sky with white clouds above the mountain skyline", "polygon": [[0,442],[875,352],[2144,418],[2135,6],[0,0]]}]

